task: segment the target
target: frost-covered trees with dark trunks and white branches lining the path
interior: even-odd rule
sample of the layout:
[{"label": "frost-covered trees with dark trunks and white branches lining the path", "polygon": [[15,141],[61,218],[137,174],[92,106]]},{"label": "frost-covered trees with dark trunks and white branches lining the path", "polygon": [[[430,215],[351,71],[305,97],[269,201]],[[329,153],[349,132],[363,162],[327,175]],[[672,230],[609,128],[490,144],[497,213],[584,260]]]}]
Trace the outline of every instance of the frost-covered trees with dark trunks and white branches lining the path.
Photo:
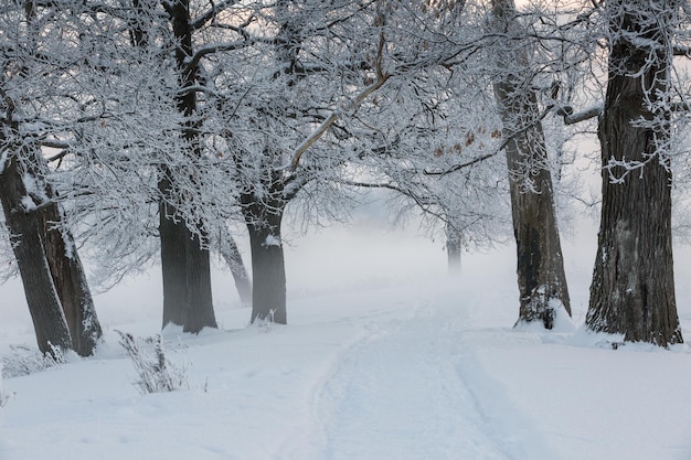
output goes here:
[{"label": "frost-covered trees with dark trunks and white branches lining the path", "polygon": [[[691,108],[681,0],[4,0],[0,202],[39,349],[100,338],[82,258],[160,264],[162,325],[215,328],[211,254],[287,323],[281,225],[384,189],[460,249],[512,226],[519,323],[571,314],[557,194],[597,130],[586,324],[682,341],[671,216]],[[252,277],[233,229],[249,236]],[[252,280],[249,282],[249,279]]]}]

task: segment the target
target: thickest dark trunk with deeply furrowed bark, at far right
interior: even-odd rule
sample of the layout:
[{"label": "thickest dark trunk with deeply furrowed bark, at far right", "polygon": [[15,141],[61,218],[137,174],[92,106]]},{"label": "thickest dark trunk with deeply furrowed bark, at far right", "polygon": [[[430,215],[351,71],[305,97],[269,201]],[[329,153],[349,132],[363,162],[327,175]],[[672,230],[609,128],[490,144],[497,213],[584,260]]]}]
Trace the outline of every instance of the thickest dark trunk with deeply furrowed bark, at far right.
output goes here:
[{"label": "thickest dark trunk with deeply furrowed bark, at far right", "polygon": [[[660,9],[655,11],[652,4]],[[671,172],[660,151],[670,136],[670,114],[663,108],[652,111],[647,100],[655,103],[668,90],[671,46],[669,30],[659,24],[669,21],[665,14],[672,14],[677,6],[676,1],[607,2],[615,39],[599,122],[603,165],[613,160],[647,164],[628,174],[621,168],[603,169],[602,218],[586,317],[591,330],[662,346],[682,342],[674,300]],[[631,43],[621,30],[641,40]],[[646,43],[656,43],[657,53]],[[623,178],[620,183],[613,183],[609,171]]]}]

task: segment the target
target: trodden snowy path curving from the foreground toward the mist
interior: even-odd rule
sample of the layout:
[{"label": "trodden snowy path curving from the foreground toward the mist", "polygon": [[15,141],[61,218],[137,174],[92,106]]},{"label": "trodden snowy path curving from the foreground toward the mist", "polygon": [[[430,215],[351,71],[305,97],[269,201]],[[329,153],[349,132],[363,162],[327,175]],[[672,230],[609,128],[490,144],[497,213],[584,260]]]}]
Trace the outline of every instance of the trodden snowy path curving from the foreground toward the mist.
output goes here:
[{"label": "trodden snowy path curving from the foreground toward the mist", "polygon": [[488,396],[500,385],[470,352],[461,352],[467,313],[449,311],[449,318],[434,309],[423,306],[412,319],[369,324],[369,339],[342,356],[318,397],[325,446],[316,457],[557,459],[501,394],[490,395],[501,406],[482,406],[477,393]]}]

